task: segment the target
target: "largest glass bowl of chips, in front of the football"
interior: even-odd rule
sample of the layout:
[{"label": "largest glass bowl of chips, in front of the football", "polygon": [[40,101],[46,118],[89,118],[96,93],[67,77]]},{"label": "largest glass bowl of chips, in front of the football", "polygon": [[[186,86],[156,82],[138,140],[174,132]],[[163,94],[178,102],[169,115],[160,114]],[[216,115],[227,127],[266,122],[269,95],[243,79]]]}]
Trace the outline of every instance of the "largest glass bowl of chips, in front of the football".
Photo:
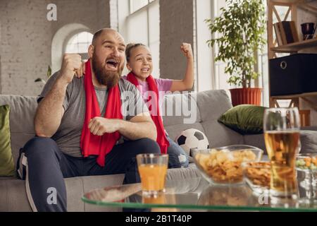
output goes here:
[{"label": "largest glass bowl of chips, in front of the football", "polygon": [[230,145],[211,149],[192,149],[194,162],[211,184],[244,183],[242,162],[261,160],[263,150],[249,145]]}]

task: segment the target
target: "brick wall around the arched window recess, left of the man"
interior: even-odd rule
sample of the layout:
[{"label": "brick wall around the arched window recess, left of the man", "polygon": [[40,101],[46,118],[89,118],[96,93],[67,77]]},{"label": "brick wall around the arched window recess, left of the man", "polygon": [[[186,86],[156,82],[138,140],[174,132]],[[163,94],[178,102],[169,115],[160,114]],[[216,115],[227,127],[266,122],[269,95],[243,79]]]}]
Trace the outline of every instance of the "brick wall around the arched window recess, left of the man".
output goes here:
[{"label": "brick wall around the arched window recess, left of the man", "polygon": [[[68,23],[94,32],[110,26],[110,0],[1,0],[0,93],[38,95],[51,64],[51,40]],[[57,6],[57,21],[46,20],[46,6]]]}]

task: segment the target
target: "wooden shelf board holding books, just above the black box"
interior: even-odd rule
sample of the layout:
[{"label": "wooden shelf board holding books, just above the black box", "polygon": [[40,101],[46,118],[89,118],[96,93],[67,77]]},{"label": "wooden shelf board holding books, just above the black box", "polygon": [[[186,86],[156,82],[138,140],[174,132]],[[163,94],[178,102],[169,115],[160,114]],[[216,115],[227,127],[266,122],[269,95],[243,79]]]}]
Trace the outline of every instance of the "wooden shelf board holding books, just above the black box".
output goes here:
[{"label": "wooden shelf board holding books, just above the black box", "polygon": [[271,48],[271,51],[279,53],[297,53],[299,50],[308,49],[311,47],[317,47],[317,39],[294,42],[291,44],[282,45],[280,47],[273,47]]}]

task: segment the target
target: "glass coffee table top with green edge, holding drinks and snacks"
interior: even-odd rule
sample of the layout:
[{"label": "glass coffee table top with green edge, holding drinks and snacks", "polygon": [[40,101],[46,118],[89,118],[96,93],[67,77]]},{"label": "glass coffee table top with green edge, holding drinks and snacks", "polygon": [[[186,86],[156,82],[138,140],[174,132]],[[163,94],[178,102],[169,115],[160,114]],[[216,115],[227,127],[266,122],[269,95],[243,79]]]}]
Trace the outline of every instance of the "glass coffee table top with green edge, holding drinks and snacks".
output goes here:
[{"label": "glass coffee table top with green edge, holding drinks and snacks", "polygon": [[307,200],[299,187],[299,198],[287,203],[270,203],[268,195],[254,194],[247,186],[211,185],[202,177],[167,180],[166,192],[155,198],[142,196],[141,184],[109,186],[82,196],[82,201],[98,206],[151,209],[152,211],[316,211],[316,201]]}]

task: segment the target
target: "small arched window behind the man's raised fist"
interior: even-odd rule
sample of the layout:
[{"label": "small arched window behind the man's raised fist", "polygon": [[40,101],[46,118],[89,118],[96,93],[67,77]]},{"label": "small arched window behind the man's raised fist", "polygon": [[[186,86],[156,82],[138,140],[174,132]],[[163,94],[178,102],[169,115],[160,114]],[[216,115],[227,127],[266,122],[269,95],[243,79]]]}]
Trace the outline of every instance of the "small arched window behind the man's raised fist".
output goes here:
[{"label": "small arched window behind the man's raised fist", "polygon": [[90,44],[92,44],[93,36],[94,35],[89,32],[80,32],[76,35],[73,35],[66,44],[65,53],[80,54],[82,59],[88,59],[88,47]]}]

